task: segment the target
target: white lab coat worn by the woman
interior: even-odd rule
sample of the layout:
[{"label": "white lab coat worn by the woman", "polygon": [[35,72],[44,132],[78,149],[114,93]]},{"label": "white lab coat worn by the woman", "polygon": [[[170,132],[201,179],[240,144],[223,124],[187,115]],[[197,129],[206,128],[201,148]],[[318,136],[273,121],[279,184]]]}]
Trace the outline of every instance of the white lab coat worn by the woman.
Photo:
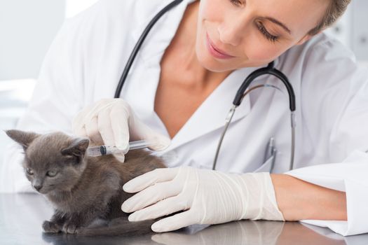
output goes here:
[{"label": "white lab coat worn by the woman", "polygon": [[[114,97],[125,62],[146,24],[171,0],[102,0],[64,23],[41,68],[38,84],[18,128],[71,132],[72,118],[83,107]],[[144,123],[168,135],[154,111],[160,60],[175,35],[187,3],[158,21],[132,66],[121,97]],[[281,55],[275,66],[292,83],[297,98],[295,169],[288,174],[346,191],[348,221],[306,221],[341,235],[368,232],[368,72],[349,50],[320,34]],[[210,169],[224,119],[245,76],[256,68],[234,71],[199,106],[162,153],[169,167]],[[278,85],[271,77],[257,83]],[[172,112],[175,116],[175,111]],[[289,104],[285,94],[265,87],[245,97],[224,138],[217,169],[268,171],[268,140],[278,153],[274,171],[288,171]],[[19,150],[8,148],[1,169],[3,191],[30,190],[20,167]],[[312,166],[312,167],[308,167]],[[304,167],[304,168],[302,168]]]}]

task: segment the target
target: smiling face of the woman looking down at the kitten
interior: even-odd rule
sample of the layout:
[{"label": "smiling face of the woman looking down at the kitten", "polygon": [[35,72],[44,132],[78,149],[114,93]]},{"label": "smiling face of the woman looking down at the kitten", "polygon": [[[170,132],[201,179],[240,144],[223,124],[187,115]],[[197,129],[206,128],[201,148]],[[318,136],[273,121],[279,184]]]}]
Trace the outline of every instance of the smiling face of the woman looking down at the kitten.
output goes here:
[{"label": "smiling face of the woman looking down at the kitten", "polygon": [[200,0],[196,53],[210,71],[262,66],[307,41],[329,0]]}]

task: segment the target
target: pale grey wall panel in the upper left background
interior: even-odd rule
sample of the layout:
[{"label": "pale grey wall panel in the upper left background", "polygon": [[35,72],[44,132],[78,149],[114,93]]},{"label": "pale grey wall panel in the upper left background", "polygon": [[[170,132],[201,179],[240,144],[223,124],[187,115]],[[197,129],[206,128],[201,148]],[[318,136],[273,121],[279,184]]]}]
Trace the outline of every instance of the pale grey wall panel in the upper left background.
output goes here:
[{"label": "pale grey wall panel in the upper left background", "polygon": [[0,0],[0,80],[36,78],[64,16],[64,0]]}]

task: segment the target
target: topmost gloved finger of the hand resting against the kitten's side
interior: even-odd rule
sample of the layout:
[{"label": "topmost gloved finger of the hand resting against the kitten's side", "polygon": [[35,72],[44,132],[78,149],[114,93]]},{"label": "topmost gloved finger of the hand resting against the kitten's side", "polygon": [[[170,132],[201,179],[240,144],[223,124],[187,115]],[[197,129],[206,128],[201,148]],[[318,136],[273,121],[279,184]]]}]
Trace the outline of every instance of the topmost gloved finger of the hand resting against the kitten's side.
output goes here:
[{"label": "topmost gloved finger of the hand resting against the kitten's side", "polygon": [[175,178],[178,172],[177,167],[175,168],[162,168],[154,169],[150,172],[146,172],[140,176],[131,179],[123,186],[123,190],[127,193],[137,193],[154,183],[170,181]]}]

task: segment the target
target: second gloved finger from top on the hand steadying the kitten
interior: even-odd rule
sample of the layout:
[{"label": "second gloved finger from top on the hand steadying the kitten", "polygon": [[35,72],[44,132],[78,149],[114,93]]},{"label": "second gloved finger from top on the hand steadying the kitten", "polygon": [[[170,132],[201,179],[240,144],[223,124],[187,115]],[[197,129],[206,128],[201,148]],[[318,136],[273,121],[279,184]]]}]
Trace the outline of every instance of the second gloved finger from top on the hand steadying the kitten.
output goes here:
[{"label": "second gloved finger from top on the hand steadying the kitten", "polygon": [[131,213],[151,204],[155,204],[165,198],[178,195],[179,193],[179,186],[172,185],[172,183],[168,182],[156,183],[154,186],[149,186],[130,197],[128,200],[125,200],[121,205],[121,209],[125,213]]}]

